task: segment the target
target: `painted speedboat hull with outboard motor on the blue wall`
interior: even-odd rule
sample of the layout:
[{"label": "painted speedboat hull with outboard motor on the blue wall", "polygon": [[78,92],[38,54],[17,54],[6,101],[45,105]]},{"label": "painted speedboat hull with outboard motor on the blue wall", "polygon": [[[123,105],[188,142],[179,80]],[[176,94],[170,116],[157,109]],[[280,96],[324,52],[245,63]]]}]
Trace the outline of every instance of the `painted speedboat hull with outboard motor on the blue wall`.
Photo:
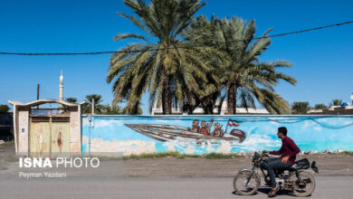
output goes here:
[{"label": "painted speedboat hull with outboard motor on the blue wall", "polygon": [[232,129],[231,132],[224,133],[223,137],[214,137],[191,131],[190,128],[176,125],[160,125],[160,124],[125,124],[125,126],[137,131],[138,133],[152,137],[159,141],[170,141],[177,138],[201,140],[226,140],[243,142],[246,138],[245,133],[240,129]]}]

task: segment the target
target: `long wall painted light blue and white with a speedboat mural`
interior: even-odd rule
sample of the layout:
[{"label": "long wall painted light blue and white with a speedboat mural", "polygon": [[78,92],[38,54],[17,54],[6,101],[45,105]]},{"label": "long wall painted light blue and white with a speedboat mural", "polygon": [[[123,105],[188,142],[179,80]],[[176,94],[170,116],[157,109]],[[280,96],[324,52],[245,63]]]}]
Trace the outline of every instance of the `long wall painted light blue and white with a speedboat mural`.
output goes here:
[{"label": "long wall painted light blue and white with a speedboat mural", "polygon": [[[250,152],[281,147],[288,128],[304,151],[353,151],[353,116],[94,116],[82,118],[82,152],[124,156]],[[90,144],[91,140],[91,144]]]}]

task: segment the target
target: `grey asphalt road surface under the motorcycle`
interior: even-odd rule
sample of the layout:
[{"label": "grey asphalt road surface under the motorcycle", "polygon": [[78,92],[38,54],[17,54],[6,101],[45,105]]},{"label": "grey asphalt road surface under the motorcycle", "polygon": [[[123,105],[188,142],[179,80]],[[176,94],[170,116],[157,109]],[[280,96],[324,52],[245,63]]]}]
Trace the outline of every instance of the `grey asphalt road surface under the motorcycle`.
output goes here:
[{"label": "grey asphalt road surface under the motorcycle", "polygon": [[[309,197],[350,199],[353,176],[316,176],[316,190]],[[0,198],[267,198],[267,188],[253,196],[234,194],[233,178],[114,178],[77,177],[20,179],[0,176]],[[277,198],[295,198],[280,192]]]}]

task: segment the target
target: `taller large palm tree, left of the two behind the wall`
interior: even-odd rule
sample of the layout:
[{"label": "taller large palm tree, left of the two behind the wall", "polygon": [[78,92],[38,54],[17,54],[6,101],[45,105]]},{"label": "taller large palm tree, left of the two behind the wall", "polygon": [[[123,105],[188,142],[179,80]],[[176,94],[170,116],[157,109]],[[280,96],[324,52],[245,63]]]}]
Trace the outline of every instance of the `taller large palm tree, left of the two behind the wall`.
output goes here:
[{"label": "taller large palm tree, left of the two behind the wall", "polygon": [[[137,25],[147,36],[119,33],[115,41],[138,39],[114,53],[110,58],[107,81],[113,81],[113,103],[127,100],[133,110],[147,91],[149,106],[162,105],[163,114],[171,114],[172,106],[183,105],[183,88],[196,90],[198,81],[205,80],[208,67],[192,55],[180,33],[190,24],[192,16],[205,3],[200,0],[124,0],[137,16],[121,14]],[[191,62],[190,64],[190,61]]]}]

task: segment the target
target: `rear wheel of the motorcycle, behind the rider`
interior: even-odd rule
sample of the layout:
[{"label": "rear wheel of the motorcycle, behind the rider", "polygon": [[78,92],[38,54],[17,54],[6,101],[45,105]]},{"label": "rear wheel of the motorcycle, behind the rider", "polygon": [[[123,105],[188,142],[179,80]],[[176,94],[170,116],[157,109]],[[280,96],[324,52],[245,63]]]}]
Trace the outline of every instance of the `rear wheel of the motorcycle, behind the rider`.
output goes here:
[{"label": "rear wheel of the motorcycle, behind the rider", "polygon": [[297,196],[308,196],[315,189],[315,179],[312,175],[305,171],[300,172],[301,180],[293,173],[290,177],[290,182],[293,183],[293,194]]}]

